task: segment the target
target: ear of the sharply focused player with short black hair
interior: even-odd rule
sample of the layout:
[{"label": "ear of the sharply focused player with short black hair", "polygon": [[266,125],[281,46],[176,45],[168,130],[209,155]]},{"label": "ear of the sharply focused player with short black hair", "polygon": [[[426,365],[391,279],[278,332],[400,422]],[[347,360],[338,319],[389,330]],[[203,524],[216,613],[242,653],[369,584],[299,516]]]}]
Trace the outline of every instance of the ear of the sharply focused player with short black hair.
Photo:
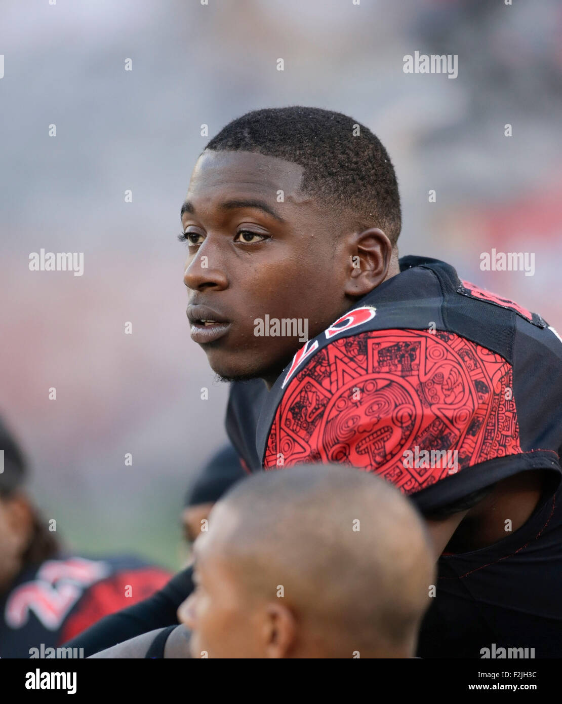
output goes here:
[{"label": "ear of the sharply focused player with short black hair", "polygon": [[392,244],[383,230],[370,227],[354,232],[348,241],[350,268],[345,284],[345,295],[352,298],[366,296],[385,280],[392,259]]}]

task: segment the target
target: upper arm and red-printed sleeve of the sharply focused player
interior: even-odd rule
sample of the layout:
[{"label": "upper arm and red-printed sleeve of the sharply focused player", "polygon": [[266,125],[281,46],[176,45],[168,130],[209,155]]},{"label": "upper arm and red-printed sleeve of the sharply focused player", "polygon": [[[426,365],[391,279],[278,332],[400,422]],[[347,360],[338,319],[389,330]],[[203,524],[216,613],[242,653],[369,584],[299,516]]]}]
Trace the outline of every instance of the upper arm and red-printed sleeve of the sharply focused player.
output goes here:
[{"label": "upper arm and red-printed sleeve of the sharply focused player", "polygon": [[558,436],[551,448],[533,439],[537,413],[518,413],[513,400],[513,378],[525,375],[505,358],[424,329],[347,332],[331,329],[315,353],[295,356],[283,386],[270,391],[257,430],[266,469],[279,458],[290,467],[327,457],[376,472],[414,501],[436,556],[504,539],[506,519],[516,531],[541,495],[553,496]]}]

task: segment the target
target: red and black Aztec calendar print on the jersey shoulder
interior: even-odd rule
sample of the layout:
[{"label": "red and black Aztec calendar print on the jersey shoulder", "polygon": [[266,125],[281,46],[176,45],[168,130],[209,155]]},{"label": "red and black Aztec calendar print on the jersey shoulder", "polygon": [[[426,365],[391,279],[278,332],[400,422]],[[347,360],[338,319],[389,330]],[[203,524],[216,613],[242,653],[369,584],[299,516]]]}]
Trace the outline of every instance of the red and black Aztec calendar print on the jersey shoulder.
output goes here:
[{"label": "red and black Aztec calendar print on the jersey shoulder", "polygon": [[503,357],[453,333],[371,330],[337,339],[288,384],[264,468],[343,463],[411,494],[449,470],[404,467],[404,451],[456,451],[459,471],[522,452],[512,388]]}]

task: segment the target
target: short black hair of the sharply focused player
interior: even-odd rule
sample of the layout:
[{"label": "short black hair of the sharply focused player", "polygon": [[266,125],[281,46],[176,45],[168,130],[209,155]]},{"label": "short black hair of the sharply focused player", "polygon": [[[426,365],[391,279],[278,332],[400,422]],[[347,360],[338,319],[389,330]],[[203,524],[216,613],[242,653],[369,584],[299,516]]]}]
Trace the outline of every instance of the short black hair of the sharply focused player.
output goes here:
[{"label": "short black hair of the sharply focused player", "polygon": [[205,146],[255,151],[304,168],[302,191],[353,210],[365,227],[381,227],[392,244],[402,215],[390,157],[368,127],[343,113],[292,106],[254,110],[229,122]]}]

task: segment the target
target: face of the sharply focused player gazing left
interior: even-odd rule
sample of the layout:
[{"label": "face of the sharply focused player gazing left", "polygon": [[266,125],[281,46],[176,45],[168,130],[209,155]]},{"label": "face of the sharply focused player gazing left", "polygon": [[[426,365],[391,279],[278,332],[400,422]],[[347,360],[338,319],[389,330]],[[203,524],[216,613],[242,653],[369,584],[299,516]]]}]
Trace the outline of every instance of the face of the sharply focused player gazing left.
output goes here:
[{"label": "face of the sharply focused player gazing left", "polygon": [[[271,382],[304,344],[260,336],[297,319],[312,339],[350,307],[345,244],[316,201],[300,192],[302,167],[243,151],[205,151],[181,221],[191,337],[222,377]],[[203,321],[207,322],[203,322]],[[272,332],[272,328],[269,328]]]}]

